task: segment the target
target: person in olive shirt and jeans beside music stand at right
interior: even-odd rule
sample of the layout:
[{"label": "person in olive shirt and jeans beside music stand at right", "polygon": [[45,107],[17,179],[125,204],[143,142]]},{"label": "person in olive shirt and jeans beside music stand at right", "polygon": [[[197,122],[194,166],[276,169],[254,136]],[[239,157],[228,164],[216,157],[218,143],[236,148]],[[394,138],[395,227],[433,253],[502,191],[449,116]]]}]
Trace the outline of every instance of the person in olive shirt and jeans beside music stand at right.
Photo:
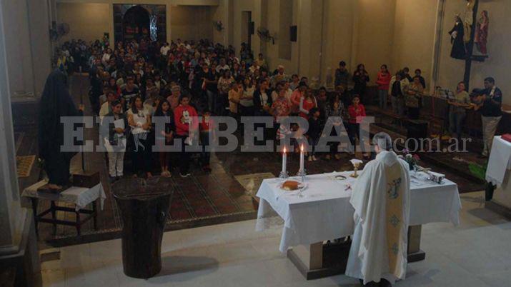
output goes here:
[{"label": "person in olive shirt and jeans beside music stand at right", "polygon": [[465,91],[465,82],[460,81],[456,88],[455,99],[449,101],[449,131],[451,136],[456,134],[458,141],[461,139],[462,123],[468,107],[470,107],[470,96]]}]

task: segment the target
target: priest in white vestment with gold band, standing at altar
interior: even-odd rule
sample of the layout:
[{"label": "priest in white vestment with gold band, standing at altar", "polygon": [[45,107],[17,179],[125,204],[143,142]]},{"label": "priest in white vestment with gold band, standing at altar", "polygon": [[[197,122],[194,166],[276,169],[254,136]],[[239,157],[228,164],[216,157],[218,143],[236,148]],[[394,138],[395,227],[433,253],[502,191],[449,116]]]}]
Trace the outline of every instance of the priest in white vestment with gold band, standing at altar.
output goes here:
[{"label": "priest in white vestment with gold band, standing at altar", "polygon": [[372,144],[376,159],[365,165],[349,201],[355,228],[345,274],[390,286],[406,273],[410,168],[388,134],[374,135]]}]

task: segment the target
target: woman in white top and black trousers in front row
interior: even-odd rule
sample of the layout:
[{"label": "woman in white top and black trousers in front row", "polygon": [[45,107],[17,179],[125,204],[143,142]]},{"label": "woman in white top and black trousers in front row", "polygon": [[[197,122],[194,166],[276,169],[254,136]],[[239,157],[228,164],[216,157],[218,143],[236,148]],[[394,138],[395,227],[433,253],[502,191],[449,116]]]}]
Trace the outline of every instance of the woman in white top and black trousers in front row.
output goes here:
[{"label": "woman in white top and black trousers in front row", "polygon": [[151,144],[148,138],[151,129],[151,114],[144,109],[141,96],[134,96],[132,107],[126,112],[128,124],[132,129],[134,148],[132,151],[132,166],[134,177],[139,171],[144,171],[148,178],[151,173]]}]

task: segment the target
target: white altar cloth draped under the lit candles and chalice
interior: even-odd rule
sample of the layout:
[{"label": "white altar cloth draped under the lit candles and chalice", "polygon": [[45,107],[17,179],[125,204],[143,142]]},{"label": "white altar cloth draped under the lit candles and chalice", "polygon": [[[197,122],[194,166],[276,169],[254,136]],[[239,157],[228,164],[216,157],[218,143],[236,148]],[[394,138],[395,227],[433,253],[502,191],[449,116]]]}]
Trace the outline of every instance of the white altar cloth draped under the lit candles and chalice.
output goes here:
[{"label": "white altar cloth draped under the lit candles and chalice", "polygon": [[[354,208],[349,203],[351,190],[347,188],[354,186],[356,179],[349,177],[351,173],[345,171],[307,176],[303,197],[297,196],[296,191],[279,188],[282,179],[265,179],[257,191],[260,201],[256,230],[271,228],[270,224],[274,222],[271,216],[275,216],[276,212],[284,220],[279,246],[282,253],[292,246],[352,235]],[[347,179],[336,180],[336,175],[346,176]],[[432,222],[460,224],[462,206],[456,183],[447,179],[443,184],[420,180],[412,181],[410,185],[410,226]]]}]

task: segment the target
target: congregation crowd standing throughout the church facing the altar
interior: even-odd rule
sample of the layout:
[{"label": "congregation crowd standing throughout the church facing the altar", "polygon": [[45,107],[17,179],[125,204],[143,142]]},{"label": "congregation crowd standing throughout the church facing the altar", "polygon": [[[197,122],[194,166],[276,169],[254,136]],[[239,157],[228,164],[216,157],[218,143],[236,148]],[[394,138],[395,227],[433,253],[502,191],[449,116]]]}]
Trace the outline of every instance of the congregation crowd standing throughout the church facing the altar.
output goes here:
[{"label": "congregation crowd standing throughout the church facing the altar", "polygon": [[[132,155],[134,175],[152,176],[153,162],[157,160],[162,176],[171,175],[172,163],[179,166],[181,176],[189,176],[191,153],[159,152],[156,155],[151,152],[151,146],[155,139],[159,144],[172,144],[174,139],[189,144],[187,141],[192,139],[192,134],[203,146],[198,156],[202,169],[211,171],[205,146],[215,139],[212,116],[232,116],[238,123],[242,116],[273,117],[274,126],[264,130],[264,138],[283,139],[292,134],[293,138],[302,139],[312,146],[312,152],[307,155],[309,161],[319,158],[314,146],[327,121],[343,126],[353,146],[357,138],[363,141],[359,136],[359,124],[366,111],[361,99],[369,83],[363,64],[350,73],[347,64],[339,62],[334,89],[327,91],[324,87],[312,89],[307,77],[286,74],[282,65],[269,69],[264,55],[254,57],[246,44],[242,44],[238,55],[232,46],[208,40],[177,39],[169,44],[140,39],[119,41],[110,47],[108,39],[102,39],[91,44],[81,40],[66,42],[59,48],[55,61],[66,73],[88,71],[89,99],[94,114],[114,120],[114,124],[109,122],[109,136],[105,138],[112,181],[124,175],[126,151]],[[390,101],[394,114],[417,119],[426,81],[420,69],[415,70],[413,76],[409,73],[410,69],[405,67],[391,74],[386,65],[381,66],[375,81],[379,107],[387,109]],[[499,109],[495,105],[499,99],[502,101],[502,93],[491,78],[485,81],[485,86],[487,91],[481,91],[478,96],[486,94],[491,98],[490,103],[487,99],[476,101],[470,97],[463,83],[457,86],[450,101],[453,134],[460,136],[466,109],[475,107],[487,116],[495,116]],[[299,135],[297,125],[285,129],[279,119],[287,116],[306,119],[308,131]],[[155,131],[154,117],[167,119],[163,130]],[[483,120],[483,131],[484,124]],[[114,148],[119,143],[125,148]],[[295,147],[299,144],[295,142]],[[331,152],[324,153],[324,159],[340,158],[337,145],[339,143],[331,144]],[[486,153],[488,149],[485,145]],[[368,156],[364,153],[364,157]]]}]

